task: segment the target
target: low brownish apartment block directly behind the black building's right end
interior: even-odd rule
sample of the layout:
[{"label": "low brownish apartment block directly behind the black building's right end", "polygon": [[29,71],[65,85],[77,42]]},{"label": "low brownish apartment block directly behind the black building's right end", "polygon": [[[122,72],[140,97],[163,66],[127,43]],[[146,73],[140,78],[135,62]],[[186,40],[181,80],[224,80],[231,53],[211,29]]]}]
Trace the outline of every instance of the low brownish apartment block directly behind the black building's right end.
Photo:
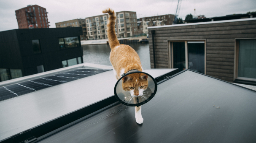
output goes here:
[{"label": "low brownish apartment block directly behind the black building's right end", "polygon": [[83,35],[80,35],[81,40],[85,40],[86,37],[86,23],[85,19],[73,19],[69,21],[62,21],[62,22],[57,22],[55,23],[56,28],[64,28],[64,27],[82,27],[83,29]]}]

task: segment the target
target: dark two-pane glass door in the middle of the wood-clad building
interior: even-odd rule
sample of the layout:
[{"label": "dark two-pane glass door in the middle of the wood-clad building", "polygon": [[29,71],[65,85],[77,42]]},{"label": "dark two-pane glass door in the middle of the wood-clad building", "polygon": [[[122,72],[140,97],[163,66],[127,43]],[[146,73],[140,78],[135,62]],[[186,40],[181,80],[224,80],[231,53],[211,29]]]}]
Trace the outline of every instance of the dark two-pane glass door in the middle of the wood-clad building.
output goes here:
[{"label": "dark two-pane glass door in the middle of the wood-clad building", "polygon": [[172,68],[190,69],[205,74],[205,42],[171,42]]}]

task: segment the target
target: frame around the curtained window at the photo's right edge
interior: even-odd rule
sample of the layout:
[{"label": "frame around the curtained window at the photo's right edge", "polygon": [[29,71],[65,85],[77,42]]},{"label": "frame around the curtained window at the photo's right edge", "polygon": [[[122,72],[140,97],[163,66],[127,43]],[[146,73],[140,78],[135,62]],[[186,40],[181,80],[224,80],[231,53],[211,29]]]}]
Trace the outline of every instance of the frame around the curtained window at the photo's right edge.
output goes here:
[{"label": "frame around the curtained window at the photo's right edge", "polygon": [[250,39],[256,39],[256,38],[235,38],[234,39],[234,76],[233,76],[233,81],[241,80],[241,81],[256,82],[256,79],[254,79],[254,78],[238,77],[239,41],[240,40],[250,40]]}]

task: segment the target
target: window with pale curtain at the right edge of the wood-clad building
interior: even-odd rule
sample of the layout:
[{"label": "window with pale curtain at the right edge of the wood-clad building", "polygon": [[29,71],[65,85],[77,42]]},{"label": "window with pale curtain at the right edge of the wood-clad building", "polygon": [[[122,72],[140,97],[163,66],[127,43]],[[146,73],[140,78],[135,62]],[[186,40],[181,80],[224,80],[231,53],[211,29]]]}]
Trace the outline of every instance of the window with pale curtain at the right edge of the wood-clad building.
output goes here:
[{"label": "window with pale curtain at the right edge of the wood-clad building", "polygon": [[239,80],[256,81],[256,39],[236,40],[235,77]]}]

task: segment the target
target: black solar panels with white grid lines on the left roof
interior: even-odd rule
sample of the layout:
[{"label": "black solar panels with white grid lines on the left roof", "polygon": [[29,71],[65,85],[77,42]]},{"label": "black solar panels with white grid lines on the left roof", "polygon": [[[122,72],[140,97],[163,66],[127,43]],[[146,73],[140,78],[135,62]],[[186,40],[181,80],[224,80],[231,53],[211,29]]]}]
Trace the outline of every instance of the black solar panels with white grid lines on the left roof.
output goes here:
[{"label": "black solar panels with white grid lines on the left roof", "polygon": [[0,101],[16,97],[19,95],[27,94],[40,89],[56,86],[62,83],[75,81],[80,78],[85,78],[90,75],[102,73],[108,70],[103,69],[83,69],[78,68],[65,72],[48,75],[33,80],[23,81],[20,83],[11,84],[8,86],[0,87]]}]

